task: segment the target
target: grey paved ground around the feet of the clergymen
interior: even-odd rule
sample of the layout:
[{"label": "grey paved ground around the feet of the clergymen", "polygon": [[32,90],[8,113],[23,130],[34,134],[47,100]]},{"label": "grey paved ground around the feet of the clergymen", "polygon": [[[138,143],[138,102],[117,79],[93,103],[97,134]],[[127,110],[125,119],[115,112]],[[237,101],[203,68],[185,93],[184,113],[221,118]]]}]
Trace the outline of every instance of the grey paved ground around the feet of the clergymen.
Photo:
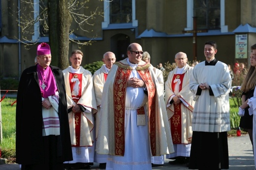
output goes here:
[{"label": "grey paved ground around the feet of the clergymen", "polygon": [[[255,170],[252,144],[248,135],[228,138],[229,170]],[[153,170],[188,170],[185,165],[169,165],[165,159],[164,165],[155,166]],[[20,170],[17,164],[0,165],[0,170]],[[98,164],[92,170],[99,170]]]}]

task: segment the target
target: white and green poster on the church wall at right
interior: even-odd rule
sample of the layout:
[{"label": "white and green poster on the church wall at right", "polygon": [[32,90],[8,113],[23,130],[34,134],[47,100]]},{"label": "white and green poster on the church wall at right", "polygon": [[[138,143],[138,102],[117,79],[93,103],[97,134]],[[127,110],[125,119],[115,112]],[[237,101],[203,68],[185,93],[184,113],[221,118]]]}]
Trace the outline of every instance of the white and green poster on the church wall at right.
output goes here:
[{"label": "white and green poster on the church wall at right", "polygon": [[247,34],[235,35],[235,58],[247,58],[248,51],[248,36]]}]

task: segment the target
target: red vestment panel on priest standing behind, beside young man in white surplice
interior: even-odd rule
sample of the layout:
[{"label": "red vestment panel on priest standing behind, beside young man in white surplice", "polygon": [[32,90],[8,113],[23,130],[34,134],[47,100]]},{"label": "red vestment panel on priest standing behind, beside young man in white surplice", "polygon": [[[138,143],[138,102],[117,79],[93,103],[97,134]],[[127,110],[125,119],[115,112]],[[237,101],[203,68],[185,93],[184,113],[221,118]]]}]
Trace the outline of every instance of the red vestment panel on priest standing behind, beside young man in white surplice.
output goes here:
[{"label": "red vestment panel on priest standing behind, beside young man in white surplice", "polygon": [[[173,81],[175,79],[180,79],[180,81],[181,81],[181,83],[179,85],[179,92],[180,92],[180,90],[182,89],[184,75],[185,75],[185,73],[173,75],[173,79],[172,79],[172,83],[171,83],[171,87],[172,87],[173,91],[175,88],[175,83],[173,83]],[[174,104],[174,114],[170,119],[171,136],[172,136],[173,144],[181,143],[181,138],[182,138],[182,134],[181,134],[181,128],[182,128],[181,105],[182,105],[182,103],[179,103],[177,105]]]}]

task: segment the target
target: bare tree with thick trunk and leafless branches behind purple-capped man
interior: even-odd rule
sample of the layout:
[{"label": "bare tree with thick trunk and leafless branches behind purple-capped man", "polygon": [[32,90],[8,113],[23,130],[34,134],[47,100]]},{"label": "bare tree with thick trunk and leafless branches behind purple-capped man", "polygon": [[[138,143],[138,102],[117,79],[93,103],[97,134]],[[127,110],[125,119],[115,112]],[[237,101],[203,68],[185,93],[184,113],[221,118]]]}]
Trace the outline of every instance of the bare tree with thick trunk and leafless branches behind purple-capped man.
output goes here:
[{"label": "bare tree with thick trunk and leafless branches behind purple-capped man", "polygon": [[[71,30],[71,23],[75,23],[78,29],[86,32],[86,25],[94,26],[91,19],[103,16],[98,7],[86,15],[87,3],[90,0],[20,0],[20,18],[17,19],[21,28],[19,41],[27,47],[38,42],[41,36],[49,36],[51,53],[54,56],[52,64],[58,65],[61,69],[68,66],[69,42],[79,45],[90,45],[90,41],[81,42],[69,38],[75,30]],[[87,12],[88,13],[88,12]],[[90,20],[89,20],[90,19]]]}]

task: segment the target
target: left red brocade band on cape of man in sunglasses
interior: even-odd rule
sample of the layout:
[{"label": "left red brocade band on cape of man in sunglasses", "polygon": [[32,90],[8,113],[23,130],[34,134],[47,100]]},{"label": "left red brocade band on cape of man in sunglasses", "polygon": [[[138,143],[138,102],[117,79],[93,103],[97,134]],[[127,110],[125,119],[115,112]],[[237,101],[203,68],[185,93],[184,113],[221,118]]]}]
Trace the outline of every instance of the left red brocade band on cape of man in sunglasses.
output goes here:
[{"label": "left red brocade band on cape of man in sunglasses", "polygon": [[131,70],[118,67],[114,81],[115,155],[125,155],[125,102]]}]

